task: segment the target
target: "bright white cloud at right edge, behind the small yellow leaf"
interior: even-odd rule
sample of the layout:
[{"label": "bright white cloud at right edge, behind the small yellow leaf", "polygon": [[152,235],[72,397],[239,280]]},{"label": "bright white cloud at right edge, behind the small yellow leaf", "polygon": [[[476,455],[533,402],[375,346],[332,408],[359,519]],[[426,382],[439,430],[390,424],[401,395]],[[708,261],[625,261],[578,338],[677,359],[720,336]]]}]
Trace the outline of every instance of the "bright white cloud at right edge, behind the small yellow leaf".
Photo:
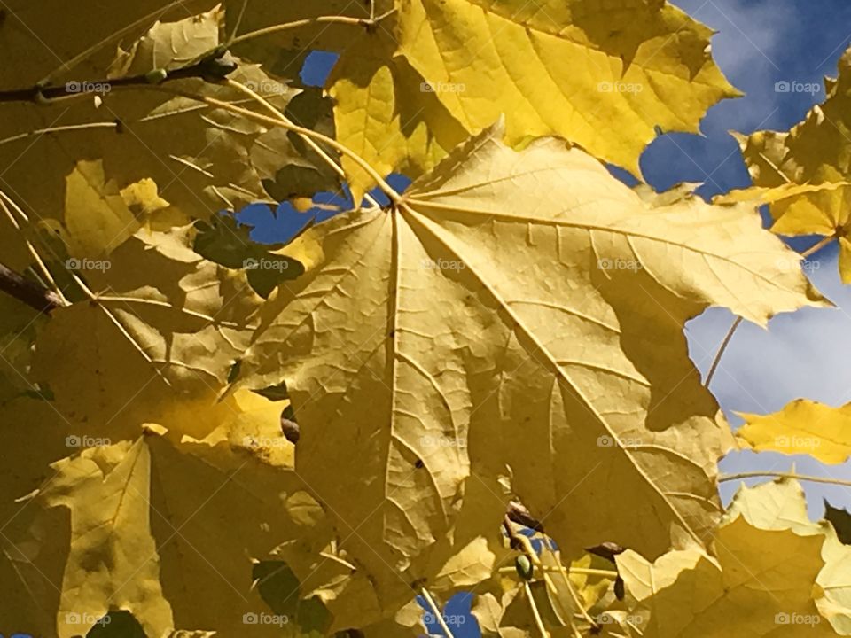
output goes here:
[{"label": "bright white cloud at right edge, behind the small yellow leaf", "polygon": [[[732,424],[741,423],[736,411],[765,414],[800,397],[832,406],[851,401],[851,287],[839,281],[835,250],[817,263],[810,278],[836,308],[778,315],[767,331],[743,323],[730,341],[711,389]],[[711,309],[687,326],[691,358],[704,375],[730,323],[729,312]],[[788,471],[792,462],[802,474],[851,479],[851,462],[826,466],[806,456],[771,453],[734,453],[722,462],[722,471]],[[804,487],[815,517],[821,516],[823,497],[851,508],[851,488]],[[733,483],[723,484],[722,496],[729,500],[735,489]]]}]

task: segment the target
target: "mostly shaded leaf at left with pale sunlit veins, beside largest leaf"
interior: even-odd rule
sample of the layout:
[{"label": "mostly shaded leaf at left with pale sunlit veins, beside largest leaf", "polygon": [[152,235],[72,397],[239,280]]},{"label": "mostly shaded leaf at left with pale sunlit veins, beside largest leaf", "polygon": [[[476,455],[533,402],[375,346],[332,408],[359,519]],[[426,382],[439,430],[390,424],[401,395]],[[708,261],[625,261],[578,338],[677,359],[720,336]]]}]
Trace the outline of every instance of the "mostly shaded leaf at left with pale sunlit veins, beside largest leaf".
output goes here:
[{"label": "mostly shaded leaf at left with pale sunlit veins, beside largest leaf", "polygon": [[67,419],[137,426],[163,404],[215,396],[226,383],[261,299],[245,272],[193,252],[194,235],[139,230],[108,260],[62,264],[88,280],[91,298],[51,314],[33,376]]}]

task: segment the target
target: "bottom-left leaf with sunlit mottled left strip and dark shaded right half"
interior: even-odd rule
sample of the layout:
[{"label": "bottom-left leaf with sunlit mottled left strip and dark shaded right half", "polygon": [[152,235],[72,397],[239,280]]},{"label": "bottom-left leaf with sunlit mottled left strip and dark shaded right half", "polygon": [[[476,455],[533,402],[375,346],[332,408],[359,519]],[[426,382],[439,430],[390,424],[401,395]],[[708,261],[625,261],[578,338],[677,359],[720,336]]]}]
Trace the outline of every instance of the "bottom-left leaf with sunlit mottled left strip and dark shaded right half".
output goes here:
[{"label": "bottom-left leaf with sunlit mottled left strip and dark shaded right half", "polygon": [[[301,490],[291,471],[225,445],[173,446],[149,433],[53,471],[31,497],[42,513],[6,549],[17,578],[4,581],[4,597],[45,590],[35,609],[61,637],[85,634],[112,610],[132,612],[148,635],[174,626],[239,634],[245,614],[270,614],[252,587],[252,558],[320,535],[288,510]],[[251,630],[277,635],[285,622]]]}]

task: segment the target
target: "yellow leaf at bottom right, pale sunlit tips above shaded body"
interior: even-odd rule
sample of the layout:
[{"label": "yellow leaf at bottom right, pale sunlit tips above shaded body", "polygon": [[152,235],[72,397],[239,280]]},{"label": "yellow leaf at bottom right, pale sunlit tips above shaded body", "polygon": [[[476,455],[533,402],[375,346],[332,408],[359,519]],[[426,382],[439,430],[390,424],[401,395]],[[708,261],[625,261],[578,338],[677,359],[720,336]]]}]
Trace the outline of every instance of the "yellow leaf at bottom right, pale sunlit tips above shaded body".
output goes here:
[{"label": "yellow leaf at bottom right, pale sunlit tips above shaded body", "polygon": [[654,563],[629,550],[617,557],[628,591],[651,612],[642,635],[837,635],[813,600],[824,535],[802,498],[775,495],[738,494],[714,534],[715,556],[691,547]]}]

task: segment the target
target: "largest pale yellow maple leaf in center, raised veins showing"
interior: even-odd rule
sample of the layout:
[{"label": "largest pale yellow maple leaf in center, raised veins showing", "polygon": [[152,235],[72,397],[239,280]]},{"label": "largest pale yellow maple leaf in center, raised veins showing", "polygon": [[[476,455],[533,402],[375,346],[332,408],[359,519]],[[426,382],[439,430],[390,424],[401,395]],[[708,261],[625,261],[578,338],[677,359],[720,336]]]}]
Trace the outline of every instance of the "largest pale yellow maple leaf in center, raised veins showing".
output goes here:
[{"label": "largest pale yellow maple leaf in center, raised veins showing", "polygon": [[[324,264],[262,308],[243,362],[244,383],[286,381],[296,467],[356,531],[379,592],[398,580],[388,565],[433,576],[427,549],[465,489],[506,463],[568,554],[609,540],[656,556],[672,528],[705,539],[730,436],[683,323],[708,305],[765,323],[824,303],[777,268],[793,253],[753,209],[650,208],[582,151],[513,152],[501,135],[459,147],[399,206],[313,231]],[[480,510],[485,533],[504,502]]]}]

